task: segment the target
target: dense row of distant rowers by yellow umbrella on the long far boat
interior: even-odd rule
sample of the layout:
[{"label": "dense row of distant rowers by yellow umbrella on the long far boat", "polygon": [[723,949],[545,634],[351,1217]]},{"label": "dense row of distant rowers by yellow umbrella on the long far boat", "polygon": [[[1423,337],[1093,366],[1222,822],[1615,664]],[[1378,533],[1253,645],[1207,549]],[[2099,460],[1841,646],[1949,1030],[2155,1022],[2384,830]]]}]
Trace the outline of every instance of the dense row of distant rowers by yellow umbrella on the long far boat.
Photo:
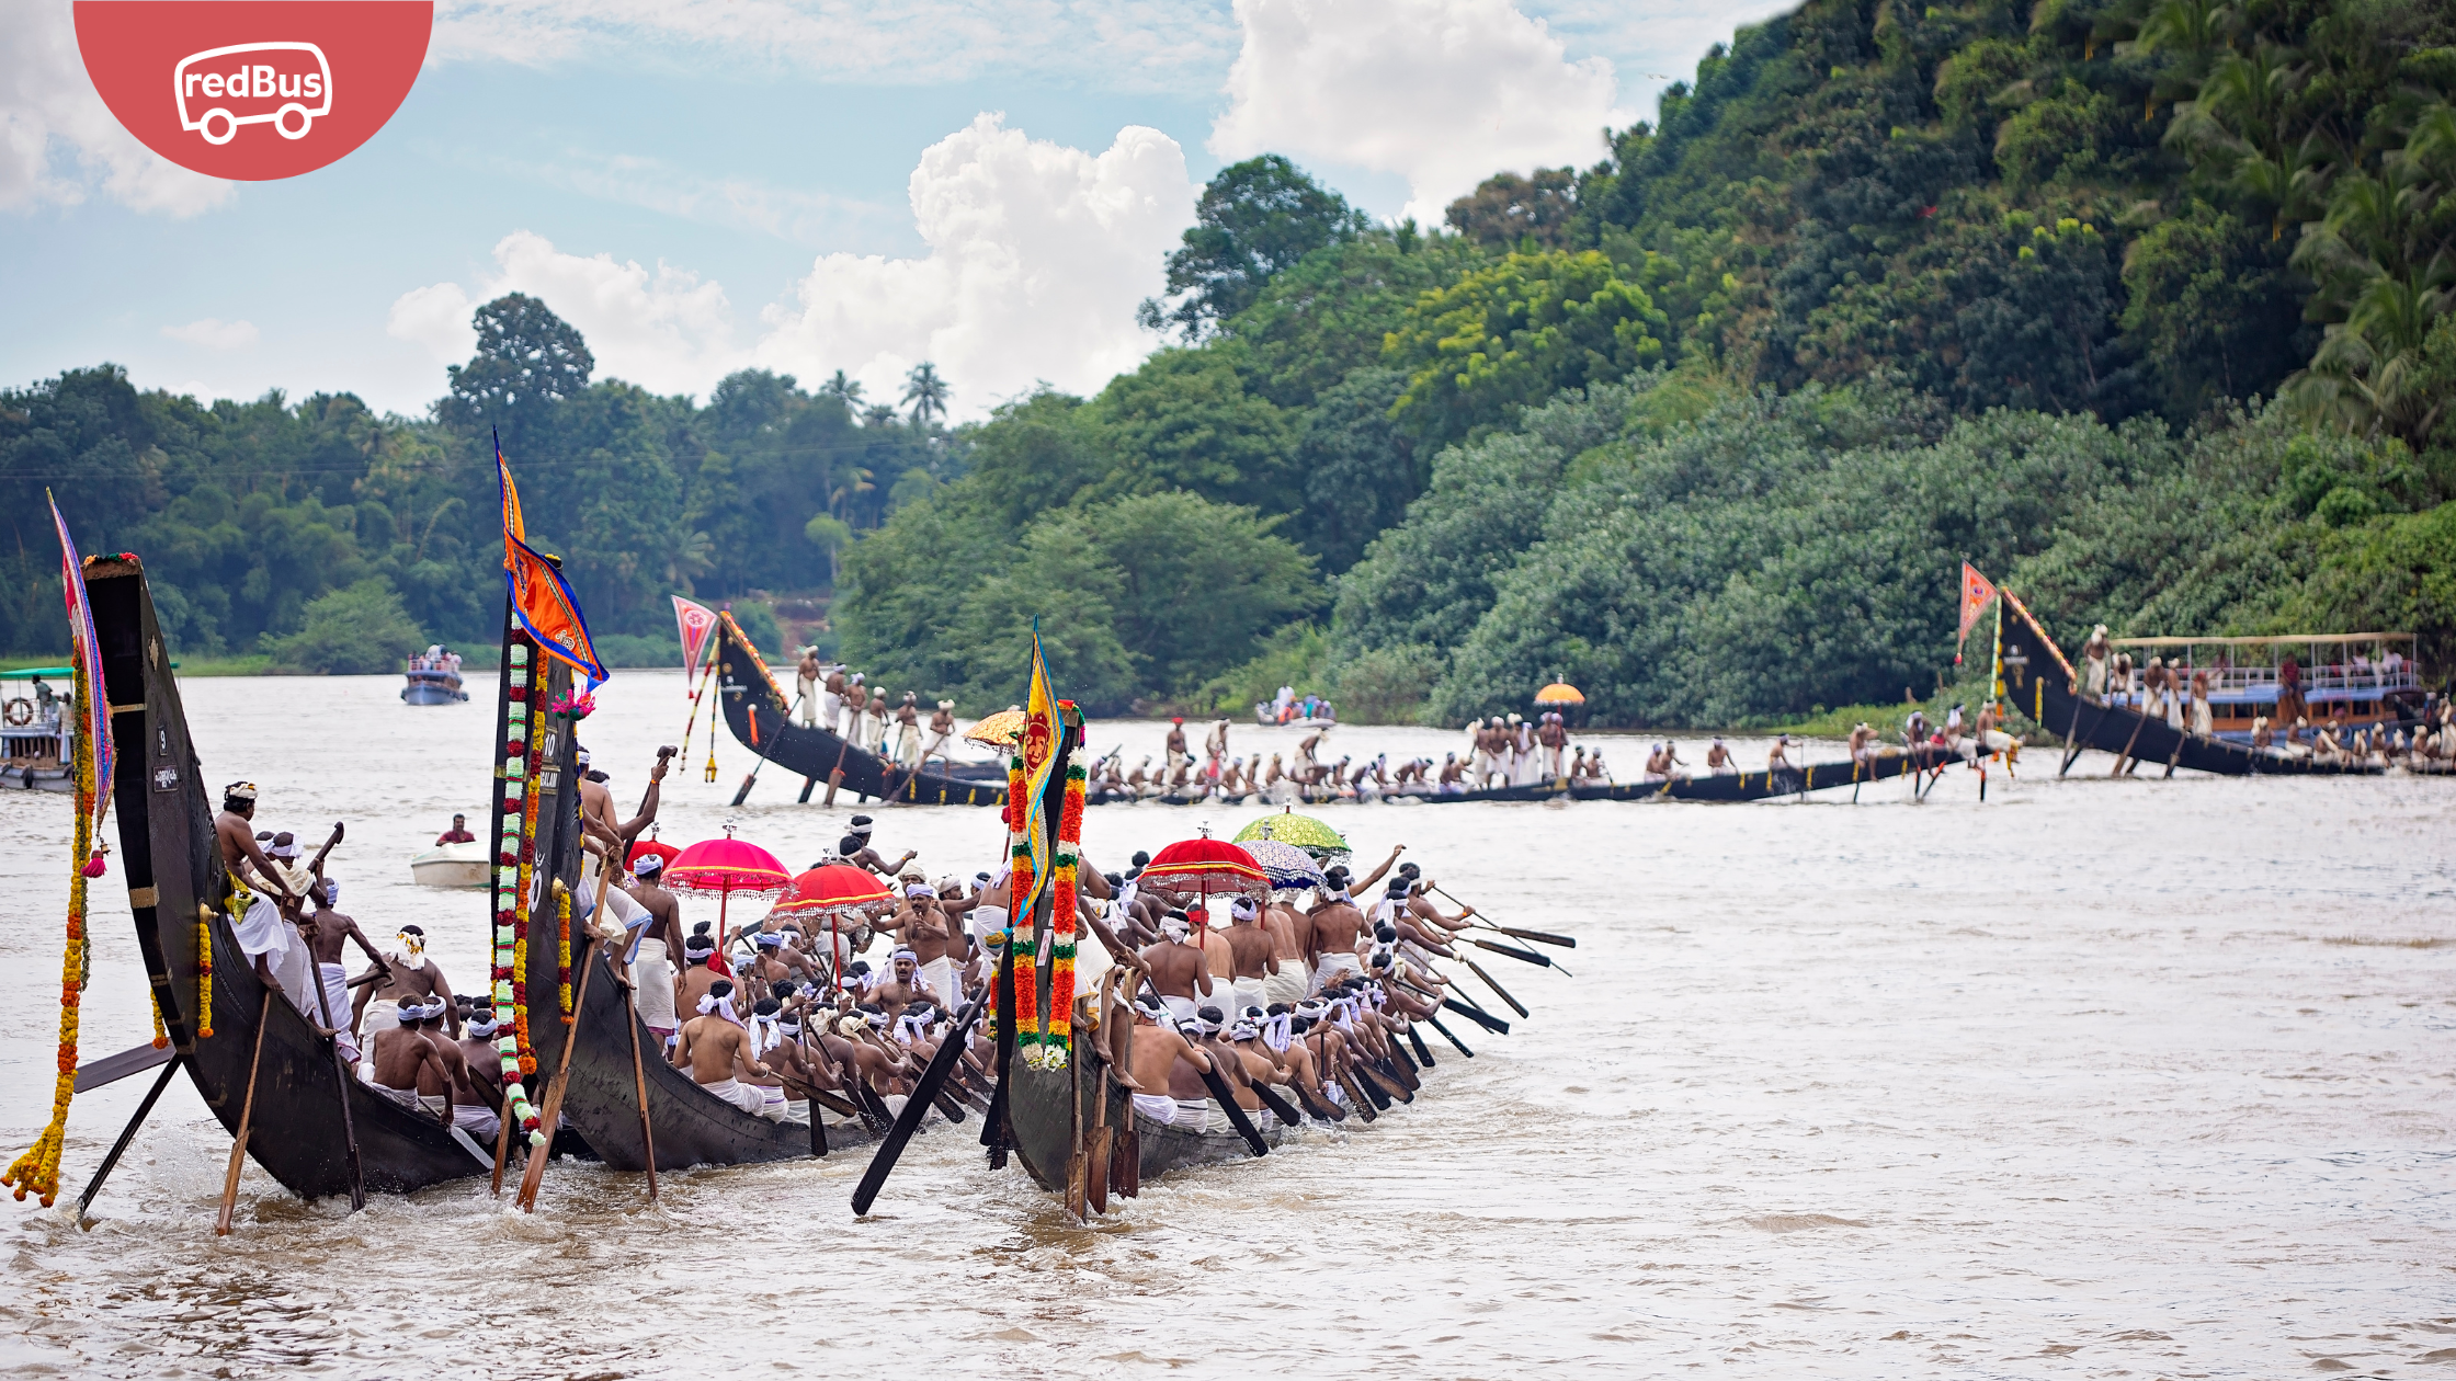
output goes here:
[{"label": "dense row of distant rowers by yellow umbrella on the long far boat", "polygon": [[[1211,722],[1203,737],[1203,754],[1186,747],[1186,722],[1169,720],[1169,737],[1162,754],[1144,754],[1132,769],[1125,767],[1122,749],[1113,749],[1090,769],[1090,796],[1095,801],[1174,801],[1174,804],[1297,804],[1297,801],[1378,801],[1383,796],[1461,796],[1501,786],[1533,786],[1540,781],[1609,781],[1604,749],[1569,745],[1569,727],[1560,715],[1545,713],[1537,720],[1520,715],[1491,718],[1466,725],[1466,749],[1444,754],[1442,762],[1410,757],[1390,762],[1390,754],[1373,754],[1358,762],[1353,754],[1326,759],[1324,740],[1336,725],[1321,725],[1297,740],[1297,752],[1260,752],[1238,759],[1228,749],[1228,718]],[[1157,764],[1154,764],[1157,757]]]}]

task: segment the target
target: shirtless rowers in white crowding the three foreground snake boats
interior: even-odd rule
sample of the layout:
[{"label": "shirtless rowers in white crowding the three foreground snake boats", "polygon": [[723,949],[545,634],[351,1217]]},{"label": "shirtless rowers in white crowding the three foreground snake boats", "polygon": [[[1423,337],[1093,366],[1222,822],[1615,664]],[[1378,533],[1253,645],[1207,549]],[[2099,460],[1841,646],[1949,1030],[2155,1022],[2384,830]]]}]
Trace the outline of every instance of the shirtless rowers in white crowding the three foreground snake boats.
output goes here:
[{"label": "shirtless rowers in white crowding the three foreground snake boats", "polygon": [[[624,858],[653,821],[661,777],[663,759],[641,816],[616,821],[604,774],[587,772],[582,823],[607,858]],[[339,826],[300,863],[292,833],[258,838],[251,784],[231,784],[223,796],[216,833],[238,882],[233,931],[258,978],[329,1035],[371,1091],[481,1143],[494,1138],[503,1103],[494,1007],[454,993],[422,926],[403,924],[378,949],[336,909],[339,882],[324,865]],[[1309,1113],[1334,1121],[1361,1101],[1407,1096],[1412,1064],[1393,1042],[1449,995],[1432,961],[1451,953],[1454,931],[1474,912],[1444,917],[1427,899],[1427,880],[1397,855],[1363,880],[1334,865],[1302,909],[1277,897],[1179,904],[1144,885],[1142,855],[1110,875],[1086,867],[1076,1017],[1081,1030],[1115,1017],[1103,1049],[1144,1116],[1211,1125],[1208,1069],[1226,1074],[1245,1111],[1262,1108],[1257,1086],[1284,1086]],[[889,882],[892,907],[828,924],[771,912],[717,934],[710,921],[685,929],[683,899],[661,885],[663,858],[639,850],[626,867],[585,875],[575,919],[589,917],[619,951],[641,1022],[710,1096],[796,1123],[810,1118],[815,1098],[882,1125],[955,1012],[995,980],[1012,902],[1005,875],[928,880],[914,860],[884,860],[872,848],[872,821],[855,816],[837,853],[820,863],[874,872]],[[616,875],[602,902],[599,872]],[[884,953],[867,958],[882,944]],[[344,966],[351,946],[368,958],[354,978]],[[982,1022],[950,1096],[985,1106],[992,1066]]]}]

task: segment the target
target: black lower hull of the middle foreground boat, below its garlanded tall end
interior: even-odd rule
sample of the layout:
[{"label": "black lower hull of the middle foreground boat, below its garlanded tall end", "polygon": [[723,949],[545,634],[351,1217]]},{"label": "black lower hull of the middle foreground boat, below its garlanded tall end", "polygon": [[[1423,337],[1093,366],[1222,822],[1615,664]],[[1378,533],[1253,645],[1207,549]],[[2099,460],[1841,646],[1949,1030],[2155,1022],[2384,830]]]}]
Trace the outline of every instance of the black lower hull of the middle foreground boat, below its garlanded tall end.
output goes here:
[{"label": "black lower hull of the middle foreground boat, below its garlanded tall end", "polygon": [[[656,1138],[656,1167],[683,1170],[690,1165],[754,1165],[764,1160],[796,1160],[815,1155],[818,1143],[808,1125],[771,1123],[756,1113],[707,1093],[693,1084],[690,1074],[666,1062],[663,1037],[651,1032],[631,1010],[629,993],[614,983],[614,973],[597,961],[597,946],[587,944],[575,926],[572,976],[577,985],[580,966],[594,963],[587,998],[572,1017],[572,1081],[562,1091],[562,1121],[587,1138],[614,1170],[646,1170],[648,1148],[639,1125],[641,1076],[648,1086],[648,1135]],[[535,993],[535,985],[530,985]],[[553,1003],[545,1003],[553,1007]],[[560,1015],[545,1020],[560,1025]],[[538,1027],[538,1015],[530,1015]],[[631,1030],[639,1032],[639,1076],[631,1069]],[[560,1042],[558,1042],[560,1057]],[[818,1106],[810,1116],[825,1116]],[[872,1138],[862,1123],[828,1121],[828,1148],[867,1145]]]}]

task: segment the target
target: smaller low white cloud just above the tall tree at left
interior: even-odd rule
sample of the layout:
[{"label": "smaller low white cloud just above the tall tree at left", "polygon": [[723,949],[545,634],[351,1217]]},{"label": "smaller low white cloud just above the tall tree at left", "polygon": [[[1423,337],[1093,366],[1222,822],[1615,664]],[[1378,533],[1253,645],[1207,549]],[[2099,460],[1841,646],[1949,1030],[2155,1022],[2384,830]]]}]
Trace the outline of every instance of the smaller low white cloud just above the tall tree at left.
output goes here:
[{"label": "smaller low white cloud just above the tall tree at left", "polygon": [[472,295],[459,283],[415,288],[393,300],[386,332],[427,346],[442,364],[462,364],[476,346],[469,312],[503,292],[540,297],[580,327],[597,356],[597,374],[629,378],[658,393],[705,393],[739,366],[725,288],[658,263],[577,256],[533,231],[494,246],[496,270]]}]

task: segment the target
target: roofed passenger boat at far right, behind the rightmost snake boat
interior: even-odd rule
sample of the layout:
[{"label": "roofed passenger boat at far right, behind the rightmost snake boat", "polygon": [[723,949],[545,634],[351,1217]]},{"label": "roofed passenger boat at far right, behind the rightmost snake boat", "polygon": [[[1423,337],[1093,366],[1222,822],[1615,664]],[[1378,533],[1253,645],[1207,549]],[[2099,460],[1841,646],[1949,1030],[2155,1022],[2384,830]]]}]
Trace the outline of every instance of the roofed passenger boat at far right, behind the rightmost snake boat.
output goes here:
[{"label": "roofed passenger boat at far right, behind the rightmost snake boat", "polygon": [[[2132,681],[2107,690],[2124,708],[2142,705],[2142,676],[2151,656],[2181,676],[2208,681],[2210,730],[2230,742],[2252,742],[2252,720],[2284,725],[2296,715],[2345,730],[2409,722],[2422,715],[2427,690],[2414,666],[2414,634],[2279,634],[2260,639],[2110,639],[2132,651]],[[2338,720],[2336,710],[2345,718]],[[2279,722],[2282,720],[2282,722]]]}]

